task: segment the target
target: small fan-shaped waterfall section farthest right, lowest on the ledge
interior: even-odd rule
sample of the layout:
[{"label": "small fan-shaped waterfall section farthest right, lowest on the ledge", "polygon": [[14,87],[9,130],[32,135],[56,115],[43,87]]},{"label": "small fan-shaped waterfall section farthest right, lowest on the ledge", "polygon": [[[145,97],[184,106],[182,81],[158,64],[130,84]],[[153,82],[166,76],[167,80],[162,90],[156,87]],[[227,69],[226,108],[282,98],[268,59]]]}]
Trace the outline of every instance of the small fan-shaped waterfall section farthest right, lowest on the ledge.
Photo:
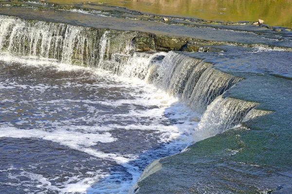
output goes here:
[{"label": "small fan-shaped waterfall section farthest right, lowest on the ledge", "polygon": [[217,97],[201,117],[196,140],[212,137],[235,127],[258,104],[232,97]]}]

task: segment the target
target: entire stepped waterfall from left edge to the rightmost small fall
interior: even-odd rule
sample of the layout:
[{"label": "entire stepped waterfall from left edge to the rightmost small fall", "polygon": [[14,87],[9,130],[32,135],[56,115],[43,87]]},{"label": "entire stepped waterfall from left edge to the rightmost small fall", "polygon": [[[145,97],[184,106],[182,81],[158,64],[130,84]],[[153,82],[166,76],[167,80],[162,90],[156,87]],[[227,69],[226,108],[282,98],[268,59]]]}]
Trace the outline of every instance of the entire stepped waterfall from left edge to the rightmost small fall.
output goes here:
[{"label": "entire stepped waterfall from left edge to the rightmost small fall", "polygon": [[[146,45],[140,41],[144,35],[0,16],[2,54],[90,65],[154,84],[203,113],[198,127],[203,138],[263,115],[248,114],[256,102],[219,97],[242,78],[181,52],[137,52],[136,47]],[[151,38],[146,34],[149,45]]]}]

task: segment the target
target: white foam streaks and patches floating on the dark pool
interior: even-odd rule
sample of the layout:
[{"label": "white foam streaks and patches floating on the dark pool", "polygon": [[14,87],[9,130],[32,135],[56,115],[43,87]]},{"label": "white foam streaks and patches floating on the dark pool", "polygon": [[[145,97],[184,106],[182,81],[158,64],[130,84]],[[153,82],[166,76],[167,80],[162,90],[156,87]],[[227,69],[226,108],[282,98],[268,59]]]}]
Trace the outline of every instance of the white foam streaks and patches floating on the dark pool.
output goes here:
[{"label": "white foam streaks and patches floating on the dark pool", "polygon": [[[16,62],[18,59],[6,58],[5,60],[8,62],[9,60],[14,60]],[[17,62],[19,63],[19,61]],[[19,120],[17,124],[26,125],[34,121],[36,123],[36,129],[18,129],[13,127],[13,124],[7,122],[0,125],[0,137],[39,138],[46,141],[55,142],[71,149],[85,152],[96,158],[114,161],[126,168],[127,172],[131,175],[131,179],[122,180],[121,177],[116,176],[115,174],[100,175],[98,172],[88,172],[86,175],[91,178],[80,179],[78,177],[72,177],[70,180],[63,183],[62,187],[64,188],[56,188],[58,190],[55,191],[58,191],[58,193],[124,194],[128,192],[128,189],[136,182],[143,170],[139,169],[137,166],[129,164],[129,162],[139,159],[139,156],[137,154],[119,155],[104,153],[99,151],[97,148],[91,147],[96,145],[97,142],[110,143],[117,141],[117,139],[113,138],[110,134],[111,130],[126,129],[153,131],[151,132],[152,135],[159,139],[157,143],[167,143],[167,146],[155,151],[157,152],[157,155],[159,155],[160,152],[168,154],[177,153],[180,149],[189,145],[193,140],[192,135],[195,133],[195,126],[198,124],[198,122],[195,121],[196,119],[193,118],[201,116],[191,111],[182,103],[179,103],[177,98],[170,97],[165,94],[165,92],[155,88],[154,86],[146,84],[145,81],[141,81],[136,78],[128,79],[110,75],[107,71],[100,69],[58,64],[55,61],[40,62],[38,60],[32,60],[31,58],[21,58],[20,62],[24,63],[24,66],[37,66],[40,70],[44,67],[50,67],[49,69],[57,71],[80,71],[81,75],[82,73],[87,72],[89,73],[90,79],[96,79],[97,83],[78,84],[71,82],[70,79],[65,79],[67,82],[61,86],[48,84],[20,86],[21,84],[14,82],[6,84],[5,87],[10,86],[23,89],[28,88],[32,94],[34,94],[34,92],[44,92],[52,88],[61,87],[85,87],[87,90],[96,90],[98,88],[118,88],[121,89],[121,97],[124,97],[124,99],[119,100],[98,99],[94,98],[95,94],[93,94],[90,99],[62,98],[49,101],[45,101],[41,98],[35,98],[33,100],[24,99],[21,100],[19,104],[29,104],[34,102],[39,107],[37,108],[37,113],[26,117],[28,118],[27,120]],[[98,77],[102,77],[103,80],[98,82]],[[74,104],[72,108],[80,108],[81,106],[86,107],[87,113],[82,114],[77,118],[73,117],[66,120],[35,120],[34,118],[34,116],[50,116],[62,112],[63,110],[70,112],[71,107],[68,107],[68,104],[71,103]],[[95,104],[101,104],[117,109],[121,106],[127,106],[127,110],[129,110],[129,112],[126,111],[125,113],[121,112],[107,114],[105,111],[96,110],[94,107]],[[52,105],[56,106],[52,108]],[[151,106],[156,108],[148,109],[148,107]],[[119,124],[116,124],[117,120],[120,121]],[[129,120],[135,123],[129,124]],[[174,120],[176,124],[171,123],[172,120]],[[115,124],[111,124],[110,121],[115,121]],[[93,123],[94,125],[76,125],[78,122]],[[99,126],[100,123],[102,124],[101,126]],[[147,150],[142,154],[146,155],[148,158],[150,158],[151,155],[147,155]],[[30,174],[27,173],[24,175],[28,177],[30,176]],[[117,180],[116,182],[110,181],[110,178],[113,177]],[[42,180],[40,187],[50,186],[50,184],[46,182],[50,180],[42,179],[41,177],[38,178]],[[100,181],[101,178],[104,178],[104,180],[97,182]],[[52,188],[52,190],[53,189],[54,188]]]}]

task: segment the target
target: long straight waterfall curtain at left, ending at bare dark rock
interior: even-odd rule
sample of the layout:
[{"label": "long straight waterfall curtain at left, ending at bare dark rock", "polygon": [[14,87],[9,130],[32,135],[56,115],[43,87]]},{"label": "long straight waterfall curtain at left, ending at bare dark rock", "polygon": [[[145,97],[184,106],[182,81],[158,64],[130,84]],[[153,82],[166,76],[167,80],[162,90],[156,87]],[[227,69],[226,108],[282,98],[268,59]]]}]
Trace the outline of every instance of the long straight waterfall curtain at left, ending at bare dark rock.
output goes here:
[{"label": "long straight waterfall curtain at left, ending at bare dark rock", "polygon": [[105,32],[103,29],[0,16],[0,51],[18,57],[98,66],[104,59],[110,59],[112,53],[128,53],[137,33]]}]

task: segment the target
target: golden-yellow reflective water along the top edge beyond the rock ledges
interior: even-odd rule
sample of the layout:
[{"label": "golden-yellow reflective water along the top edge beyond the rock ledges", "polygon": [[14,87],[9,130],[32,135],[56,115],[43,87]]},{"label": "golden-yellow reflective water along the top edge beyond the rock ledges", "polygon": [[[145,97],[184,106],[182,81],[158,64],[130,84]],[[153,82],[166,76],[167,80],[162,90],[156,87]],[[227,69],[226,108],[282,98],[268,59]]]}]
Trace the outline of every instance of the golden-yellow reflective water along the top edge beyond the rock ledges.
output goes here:
[{"label": "golden-yellow reflective water along the top edge beyond the rock ledges", "polygon": [[48,0],[74,4],[99,3],[127,7],[145,13],[196,17],[221,21],[256,21],[292,27],[292,0]]}]

